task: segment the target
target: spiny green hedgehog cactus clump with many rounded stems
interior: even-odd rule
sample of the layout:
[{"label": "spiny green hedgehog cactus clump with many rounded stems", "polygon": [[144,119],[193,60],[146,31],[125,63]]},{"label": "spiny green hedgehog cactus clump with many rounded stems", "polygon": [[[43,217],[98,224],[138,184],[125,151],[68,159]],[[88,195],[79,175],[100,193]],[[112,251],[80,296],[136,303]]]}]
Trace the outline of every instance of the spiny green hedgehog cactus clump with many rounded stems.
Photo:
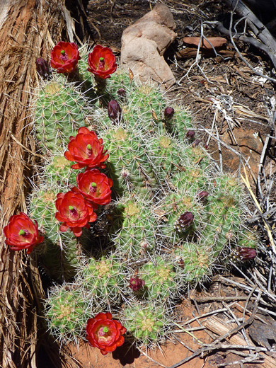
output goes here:
[{"label": "spiny green hedgehog cactus clump with many rounded stems", "polygon": [[[156,345],[188,284],[204,282],[247,238],[256,245],[242,225],[245,195],[236,178],[217,172],[182,106],[122,69],[92,99],[96,81],[85,60],[79,62],[81,85],[54,75],[34,103],[47,160],[28,209],[45,234],[41,262],[63,282],[50,289],[45,316],[63,342],[84,337],[85,320],[96,311],[111,311],[137,345]],[[107,108],[108,99],[117,102]],[[97,221],[76,241],[70,231],[59,231],[54,202],[85,170],[72,169],[63,156],[83,126],[108,150],[101,172],[113,180],[113,199],[96,207]]]}]

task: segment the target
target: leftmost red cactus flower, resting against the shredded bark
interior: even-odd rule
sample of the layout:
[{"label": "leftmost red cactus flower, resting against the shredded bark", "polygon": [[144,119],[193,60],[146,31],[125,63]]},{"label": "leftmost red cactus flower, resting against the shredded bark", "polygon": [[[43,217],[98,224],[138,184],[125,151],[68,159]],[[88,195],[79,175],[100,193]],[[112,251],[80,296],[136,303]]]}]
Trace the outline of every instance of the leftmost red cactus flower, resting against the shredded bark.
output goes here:
[{"label": "leftmost red cactus flower, resting against the shredded bark", "polygon": [[12,251],[27,249],[28,254],[33,251],[34,246],[44,240],[43,236],[38,234],[38,222],[33,222],[23,212],[9,219],[8,225],[4,227],[4,236]]}]

